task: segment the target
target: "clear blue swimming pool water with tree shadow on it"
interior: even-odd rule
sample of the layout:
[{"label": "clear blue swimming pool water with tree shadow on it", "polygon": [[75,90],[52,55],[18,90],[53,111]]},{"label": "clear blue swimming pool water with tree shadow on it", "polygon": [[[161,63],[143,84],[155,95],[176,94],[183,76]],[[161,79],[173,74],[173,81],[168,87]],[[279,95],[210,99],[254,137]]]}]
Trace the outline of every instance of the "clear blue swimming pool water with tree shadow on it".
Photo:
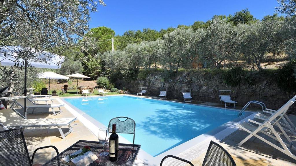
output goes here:
[{"label": "clear blue swimming pool water with tree shadow on it", "polygon": [[[65,98],[66,102],[108,126],[118,116],[136,122],[135,144],[157,156],[238,118],[238,111],[130,96]],[[243,116],[250,115],[244,112]],[[123,137],[133,142],[132,134]]]}]

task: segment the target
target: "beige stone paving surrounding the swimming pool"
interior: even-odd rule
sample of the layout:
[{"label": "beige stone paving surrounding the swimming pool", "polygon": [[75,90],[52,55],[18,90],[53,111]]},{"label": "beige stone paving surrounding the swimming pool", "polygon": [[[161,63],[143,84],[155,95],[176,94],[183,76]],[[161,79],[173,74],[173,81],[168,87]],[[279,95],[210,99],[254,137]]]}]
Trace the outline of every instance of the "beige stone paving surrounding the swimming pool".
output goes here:
[{"label": "beige stone paving surrounding the swimming pool", "polygon": [[[150,96],[147,96],[150,97]],[[151,97],[151,98],[158,98],[158,97]],[[172,100],[172,99],[168,99]],[[184,100],[174,100],[184,102]],[[58,104],[57,100],[54,100],[54,104]],[[195,101],[193,104],[201,104],[201,105],[209,105],[209,106],[216,106],[216,107],[224,107],[223,104],[217,103],[210,103],[210,102],[198,102]],[[241,107],[237,107],[238,110]],[[18,111],[22,113],[23,109],[18,108]],[[258,108],[252,108],[257,112],[260,112]],[[37,119],[37,118],[69,118],[74,117],[65,107],[62,107],[62,113],[57,114],[56,116],[53,115],[51,110],[48,109],[37,109],[34,111],[34,114],[28,114],[28,119]],[[31,109],[28,110],[28,113],[31,112]],[[289,118],[296,124],[296,116],[295,115],[288,115]],[[89,140],[89,141],[98,141],[98,138],[94,133],[92,133],[88,128],[86,128],[83,123],[79,120],[76,120],[72,123],[73,132],[66,136],[66,139],[62,139],[57,127],[52,128],[25,128],[24,135],[26,139],[26,143],[28,146],[29,154],[32,155],[33,151],[42,146],[54,145],[59,149],[59,152],[62,152],[70,145],[74,144],[78,140]],[[3,130],[0,128],[0,130]],[[64,132],[67,131],[67,127],[62,128]],[[296,161],[292,158],[288,157],[287,155],[279,152],[278,150],[274,149],[273,147],[269,146],[268,144],[264,143],[263,141],[252,138],[248,140],[246,143],[243,144],[242,147],[237,146],[237,144],[244,139],[248,135],[247,132],[242,130],[237,130],[227,136],[226,138],[222,139],[221,141],[216,140],[222,147],[224,147],[234,158],[235,163],[237,166],[249,165],[249,166],[296,166]],[[281,134],[282,135],[282,134]],[[296,137],[289,135],[292,141],[296,141]],[[263,136],[266,138],[266,136]],[[278,144],[273,139],[266,138],[275,144]],[[208,145],[206,145],[207,147]],[[201,155],[197,156],[191,162],[195,165],[202,165],[203,159],[205,157],[205,152],[202,152]],[[296,152],[293,152],[296,154]],[[54,157],[55,151],[54,149],[41,149],[36,153],[34,158],[34,163],[41,163],[44,164],[46,161],[50,160]],[[139,158],[136,160],[135,165],[142,166],[146,165],[143,161]],[[164,164],[165,166],[165,164]]]}]

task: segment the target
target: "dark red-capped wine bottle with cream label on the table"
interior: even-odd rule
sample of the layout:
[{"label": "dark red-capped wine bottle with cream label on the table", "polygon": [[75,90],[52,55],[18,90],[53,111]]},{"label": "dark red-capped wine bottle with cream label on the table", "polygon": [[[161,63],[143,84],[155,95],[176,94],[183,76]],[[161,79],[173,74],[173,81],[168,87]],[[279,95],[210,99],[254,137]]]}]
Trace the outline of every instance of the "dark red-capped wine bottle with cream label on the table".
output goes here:
[{"label": "dark red-capped wine bottle with cream label on the table", "polygon": [[112,134],[109,138],[109,160],[116,161],[118,159],[118,135],[116,134],[116,124],[112,125]]}]

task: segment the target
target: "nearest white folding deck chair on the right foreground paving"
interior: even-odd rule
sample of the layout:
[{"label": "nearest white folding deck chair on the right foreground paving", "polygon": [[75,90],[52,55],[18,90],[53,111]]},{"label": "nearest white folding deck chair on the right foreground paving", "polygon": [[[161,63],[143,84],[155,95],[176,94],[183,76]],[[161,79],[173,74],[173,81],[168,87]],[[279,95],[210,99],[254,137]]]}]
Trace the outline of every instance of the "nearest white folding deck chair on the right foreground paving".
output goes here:
[{"label": "nearest white folding deck chair on the right foreground paving", "polygon": [[[248,133],[250,133],[250,135],[248,135],[245,139],[243,139],[241,142],[239,142],[238,146],[241,146],[247,140],[249,140],[252,136],[255,136],[258,139],[262,140],[263,142],[269,144],[270,146],[278,149],[279,151],[283,152],[284,154],[287,154],[289,157],[292,157],[293,159],[296,160],[296,156],[294,154],[292,154],[292,152],[291,152],[291,149],[295,150],[296,147],[294,146],[293,142],[291,141],[291,139],[289,138],[287,133],[284,131],[284,129],[279,124],[279,120],[284,116],[284,114],[287,112],[288,108],[294,102],[295,102],[295,99],[292,98],[291,100],[289,100],[279,110],[274,112],[268,119],[266,119],[262,123],[259,123],[257,121],[248,119],[249,122],[243,122],[241,124],[238,124],[237,126],[239,128],[242,128],[244,131],[247,131]],[[259,126],[254,126],[250,122],[255,123],[255,124],[259,125]],[[279,134],[274,129],[274,125],[276,125],[281,130],[281,132],[283,133],[283,135],[287,139],[288,143],[284,142],[281,139]],[[268,131],[266,132],[265,130],[267,130],[267,129],[268,129]],[[280,145],[278,146],[278,145],[274,144],[273,142],[268,141],[265,138],[259,136],[258,132],[261,132],[261,133],[269,136],[270,138],[278,141]]]}]

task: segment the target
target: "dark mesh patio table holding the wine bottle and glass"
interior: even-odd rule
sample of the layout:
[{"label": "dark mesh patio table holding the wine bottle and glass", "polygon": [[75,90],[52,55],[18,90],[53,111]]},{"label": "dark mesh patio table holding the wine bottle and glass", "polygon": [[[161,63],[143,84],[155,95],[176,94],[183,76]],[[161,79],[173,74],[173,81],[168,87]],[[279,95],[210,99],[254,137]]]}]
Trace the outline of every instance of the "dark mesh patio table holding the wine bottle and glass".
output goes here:
[{"label": "dark mesh patio table holding the wine bottle and glass", "polygon": [[[63,152],[61,152],[56,157],[52,158],[50,161],[46,162],[44,166],[67,166],[68,164],[64,164],[60,161],[63,157],[68,156],[69,154],[82,149],[84,146],[89,146],[91,148],[91,151],[96,154],[98,157],[97,160],[89,164],[89,166],[123,166],[123,165],[129,165],[132,166],[133,163],[136,160],[136,157],[139,153],[141,145],[136,144],[119,144],[118,146],[118,160],[115,162],[109,161],[109,155],[106,157],[99,156],[99,153],[103,150],[103,144],[96,142],[96,141],[84,141],[79,140]],[[105,150],[109,149],[109,143],[105,144]]]}]

